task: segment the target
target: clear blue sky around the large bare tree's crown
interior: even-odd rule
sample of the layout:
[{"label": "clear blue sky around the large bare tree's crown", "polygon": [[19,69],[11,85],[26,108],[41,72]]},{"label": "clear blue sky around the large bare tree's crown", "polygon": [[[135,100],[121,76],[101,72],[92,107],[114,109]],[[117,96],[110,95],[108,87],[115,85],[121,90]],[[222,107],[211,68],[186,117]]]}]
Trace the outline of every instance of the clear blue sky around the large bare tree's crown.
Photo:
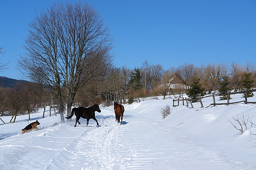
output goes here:
[{"label": "clear blue sky around the large bare tree's crown", "polygon": [[[59,0],[75,2],[76,0]],[[57,0],[0,0],[0,76],[19,78],[16,70],[35,11]],[[165,70],[232,62],[256,64],[256,0],[81,0],[100,11],[114,38],[114,64],[140,67],[161,64]]]}]

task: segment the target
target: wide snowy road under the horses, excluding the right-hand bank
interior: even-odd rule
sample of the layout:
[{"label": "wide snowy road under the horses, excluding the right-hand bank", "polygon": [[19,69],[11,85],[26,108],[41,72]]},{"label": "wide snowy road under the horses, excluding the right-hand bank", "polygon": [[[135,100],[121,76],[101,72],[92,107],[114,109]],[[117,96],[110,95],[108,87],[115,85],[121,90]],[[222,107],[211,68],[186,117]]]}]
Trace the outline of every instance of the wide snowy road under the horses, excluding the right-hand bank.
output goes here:
[{"label": "wide snowy road under the horses, excluding the right-hand bank", "polygon": [[131,111],[113,109],[73,127],[59,124],[0,141],[2,170],[255,170],[218,150]]}]

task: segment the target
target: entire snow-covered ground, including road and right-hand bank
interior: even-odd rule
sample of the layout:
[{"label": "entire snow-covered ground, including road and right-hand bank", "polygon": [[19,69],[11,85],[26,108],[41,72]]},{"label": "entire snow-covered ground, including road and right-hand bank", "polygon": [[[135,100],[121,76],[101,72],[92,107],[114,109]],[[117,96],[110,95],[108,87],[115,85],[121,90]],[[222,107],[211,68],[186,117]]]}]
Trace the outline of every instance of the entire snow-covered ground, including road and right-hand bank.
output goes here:
[{"label": "entire snow-covered ground, including road and right-hand bank", "polygon": [[[231,97],[231,102],[243,100],[241,95]],[[212,98],[203,102],[208,106]],[[160,109],[167,104],[171,114],[163,120]],[[256,135],[239,133],[227,120],[244,114],[256,123],[255,104],[172,107],[172,99],[159,97],[124,106],[123,125],[115,122],[113,106],[96,112],[100,127],[94,120],[86,127],[84,119],[74,127],[75,116],[60,124],[60,116],[49,117],[49,110],[45,119],[39,111],[29,122],[28,115],[12,124],[0,122],[0,169],[256,170]],[[40,130],[21,134],[35,120]],[[249,128],[256,134],[256,128]]]}]

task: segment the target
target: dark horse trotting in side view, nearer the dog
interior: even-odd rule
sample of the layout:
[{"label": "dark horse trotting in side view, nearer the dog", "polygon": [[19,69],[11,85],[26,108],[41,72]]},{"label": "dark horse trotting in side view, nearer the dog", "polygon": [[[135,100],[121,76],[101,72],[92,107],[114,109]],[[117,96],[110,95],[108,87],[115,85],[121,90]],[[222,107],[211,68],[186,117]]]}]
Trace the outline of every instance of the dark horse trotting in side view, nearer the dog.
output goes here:
[{"label": "dark horse trotting in side view, nearer the dog", "polygon": [[74,115],[75,113],[75,116],[76,116],[76,120],[75,120],[75,127],[76,127],[76,123],[78,122],[78,124],[80,125],[81,123],[79,122],[79,119],[82,117],[84,119],[87,119],[87,126],[89,124],[89,120],[90,119],[93,119],[97,122],[97,126],[98,125],[98,121],[96,120],[95,118],[95,111],[97,112],[101,112],[101,110],[99,109],[99,106],[98,104],[95,104],[91,107],[88,107],[88,108],[85,108],[85,107],[74,107],[72,109],[72,112],[71,112],[71,115],[68,116],[68,117],[65,117],[66,119],[70,119],[72,118],[72,116]]}]

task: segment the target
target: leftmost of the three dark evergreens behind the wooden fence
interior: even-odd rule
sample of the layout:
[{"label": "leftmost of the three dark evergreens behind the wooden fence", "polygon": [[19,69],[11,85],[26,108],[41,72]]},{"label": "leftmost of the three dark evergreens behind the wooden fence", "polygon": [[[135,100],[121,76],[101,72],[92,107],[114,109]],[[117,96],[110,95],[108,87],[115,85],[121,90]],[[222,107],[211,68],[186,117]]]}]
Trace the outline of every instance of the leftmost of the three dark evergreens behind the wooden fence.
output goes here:
[{"label": "leftmost of the three dark evergreens behind the wooden fence", "polygon": [[192,102],[198,101],[199,96],[204,96],[204,88],[202,84],[200,84],[200,78],[196,78],[195,76],[192,78],[191,88],[187,91],[188,97],[191,98]]}]

